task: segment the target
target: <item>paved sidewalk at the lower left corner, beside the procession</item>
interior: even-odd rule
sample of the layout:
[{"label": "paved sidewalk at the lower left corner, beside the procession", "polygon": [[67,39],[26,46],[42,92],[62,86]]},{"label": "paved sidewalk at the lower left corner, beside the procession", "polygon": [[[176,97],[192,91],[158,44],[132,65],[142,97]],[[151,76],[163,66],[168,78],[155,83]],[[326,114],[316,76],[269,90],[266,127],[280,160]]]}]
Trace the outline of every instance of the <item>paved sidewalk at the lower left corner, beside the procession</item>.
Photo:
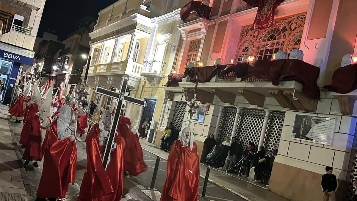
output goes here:
[{"label": "paved sidewalk at the lower left corner, beside the procession", "polygon": [[29,182],[14,133],[9,123],[8,108],[0,105],[0,200],[32,200]]}]

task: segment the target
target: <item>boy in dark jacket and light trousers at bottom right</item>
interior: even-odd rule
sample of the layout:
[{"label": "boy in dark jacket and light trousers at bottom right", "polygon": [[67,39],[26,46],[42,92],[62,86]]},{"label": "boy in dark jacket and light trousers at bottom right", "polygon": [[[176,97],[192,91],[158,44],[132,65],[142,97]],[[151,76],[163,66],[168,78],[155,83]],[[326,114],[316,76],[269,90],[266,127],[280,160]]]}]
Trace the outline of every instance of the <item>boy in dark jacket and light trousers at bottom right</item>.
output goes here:
[{"label": "boy in dark jacket and light trousers at bottom right", "polygon": [[336,201],[335,191],[338,188],[336,175],[332,174],[333,168],[326,166],[326,174],[322,175],[321,187],[323,190],[323,201]]}]

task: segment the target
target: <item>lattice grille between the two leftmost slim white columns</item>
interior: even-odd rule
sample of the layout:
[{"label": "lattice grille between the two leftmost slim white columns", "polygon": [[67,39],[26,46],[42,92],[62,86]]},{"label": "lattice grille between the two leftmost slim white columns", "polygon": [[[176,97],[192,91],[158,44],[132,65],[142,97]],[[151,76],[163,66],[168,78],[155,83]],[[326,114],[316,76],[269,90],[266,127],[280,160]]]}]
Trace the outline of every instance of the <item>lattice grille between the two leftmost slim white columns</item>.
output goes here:
[{"label": "lattice grille between the two leftmost slim white columns", "polygon": [[223,108],[220,119],[219,132],[218,136],[216,136],[217,143],[223,142],[227,137],[231,138],[236,113],[237,108],[235,107]]}]

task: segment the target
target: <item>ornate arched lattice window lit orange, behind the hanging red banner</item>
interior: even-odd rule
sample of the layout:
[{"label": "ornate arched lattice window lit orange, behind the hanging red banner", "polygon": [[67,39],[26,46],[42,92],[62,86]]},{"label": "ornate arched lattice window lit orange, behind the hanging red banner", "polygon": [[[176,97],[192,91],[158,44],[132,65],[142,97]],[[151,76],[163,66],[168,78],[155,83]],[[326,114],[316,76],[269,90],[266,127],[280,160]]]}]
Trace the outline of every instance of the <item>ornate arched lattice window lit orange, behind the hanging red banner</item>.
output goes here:
[{"label": "ornate arched lattice window lit orange, behind the hanging red banner", "polygon": [[305,19],[306,13],[276,19],[273,26],[267,29],[243,27],[235,61],[241,62],[247,54],[264,60],[271,60],[280,50],[289,54],[300,47]]}]

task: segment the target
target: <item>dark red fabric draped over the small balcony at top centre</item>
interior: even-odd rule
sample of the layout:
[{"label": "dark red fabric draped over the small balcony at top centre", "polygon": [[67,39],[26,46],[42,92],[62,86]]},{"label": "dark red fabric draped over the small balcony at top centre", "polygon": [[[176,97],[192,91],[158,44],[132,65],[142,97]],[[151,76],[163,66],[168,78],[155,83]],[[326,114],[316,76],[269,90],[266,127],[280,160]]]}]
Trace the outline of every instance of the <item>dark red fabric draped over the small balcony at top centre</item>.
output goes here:
[{"label": "dark red fabric draped over the small balcony at top centre", "polygon": [[211,9],[212,8],[210,6],[202,4],[200,1],[190,1],[180,10],[180,18],[182,21],[185,21],[190,15],[191,11],[195,10],[197,16],[208,19],[210,18]]}]

